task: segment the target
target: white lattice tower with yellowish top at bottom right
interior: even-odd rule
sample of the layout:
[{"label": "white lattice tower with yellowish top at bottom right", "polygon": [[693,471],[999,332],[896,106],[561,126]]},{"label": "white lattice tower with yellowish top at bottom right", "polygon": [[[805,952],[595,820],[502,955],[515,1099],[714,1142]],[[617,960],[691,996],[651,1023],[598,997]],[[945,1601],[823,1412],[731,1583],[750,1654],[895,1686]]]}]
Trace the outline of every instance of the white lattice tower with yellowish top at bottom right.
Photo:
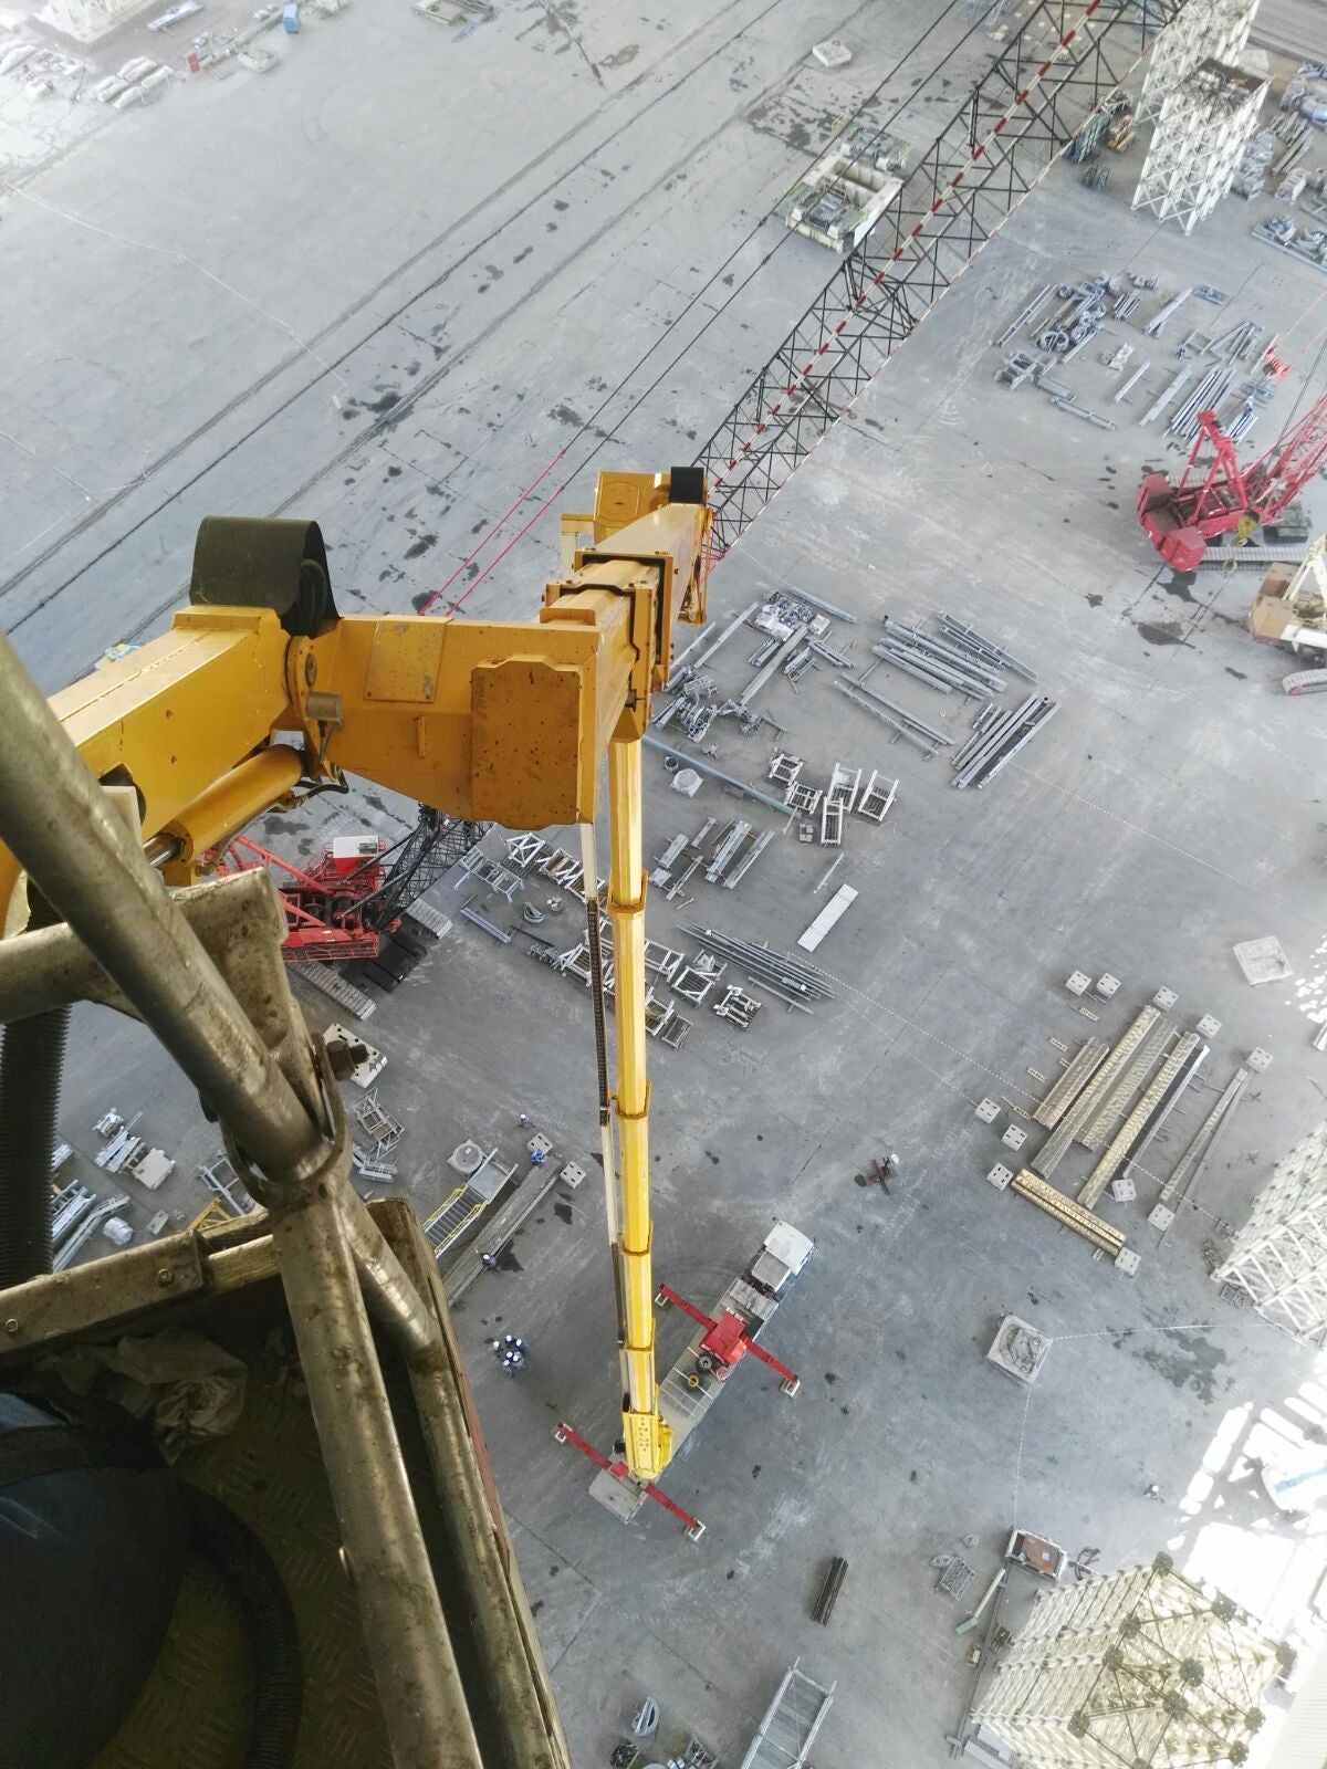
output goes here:
[{"label": "white lattice tower with yellowish top at bottom right", "polygon": [[1026,1769],[1242,1764],[1288,1663],[1228,1597],[1157,1555],[1040,1596],[973,1719]]}]

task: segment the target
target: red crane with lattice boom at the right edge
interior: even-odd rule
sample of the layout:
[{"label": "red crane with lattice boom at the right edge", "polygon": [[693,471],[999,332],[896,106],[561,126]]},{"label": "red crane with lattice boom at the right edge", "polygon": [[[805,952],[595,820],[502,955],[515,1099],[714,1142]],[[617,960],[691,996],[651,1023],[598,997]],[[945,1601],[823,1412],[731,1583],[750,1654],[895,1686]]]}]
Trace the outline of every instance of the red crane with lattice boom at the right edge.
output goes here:
[{"label": "red crane with lattice boom at the right edge", "polygon": [[[1198,465],[1212,444],[1207,469]],[[1292,425],[1246,472],[1216,412],[1198,414],[1198,440],[1178,485],[1150,472],[1138,488],[1138,520],[1166,564],[1193,571],[1207,543],[1237,531],[1244,541],[1276,518],[1327,460],[1327,396]]]}]

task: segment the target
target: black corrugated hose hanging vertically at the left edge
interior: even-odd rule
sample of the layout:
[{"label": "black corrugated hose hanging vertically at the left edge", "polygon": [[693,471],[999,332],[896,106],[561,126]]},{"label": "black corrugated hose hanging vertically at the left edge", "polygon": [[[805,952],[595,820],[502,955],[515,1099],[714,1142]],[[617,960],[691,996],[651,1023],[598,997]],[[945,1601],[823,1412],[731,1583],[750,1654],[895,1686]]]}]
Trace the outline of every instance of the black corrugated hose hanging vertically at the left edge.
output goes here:
[{"label": "black corrugated hose hanging vertically at the left edge", "polygon": [[0,1035],[0,1290],[51,1268],[51,1168],[69,1008]]}]

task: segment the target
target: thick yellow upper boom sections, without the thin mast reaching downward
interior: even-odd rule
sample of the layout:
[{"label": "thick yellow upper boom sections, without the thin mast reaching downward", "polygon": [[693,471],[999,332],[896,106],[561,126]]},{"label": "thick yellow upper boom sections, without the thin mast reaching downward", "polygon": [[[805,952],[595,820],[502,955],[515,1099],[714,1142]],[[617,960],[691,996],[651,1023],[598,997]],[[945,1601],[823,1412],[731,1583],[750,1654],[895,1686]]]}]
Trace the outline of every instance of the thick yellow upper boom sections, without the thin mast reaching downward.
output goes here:
[{"label": "thick yellow upper boom sections, without the thin mast reaching downward", "polygon": [[[591,819],[609,741],[644,729],[667,674],[674,619],[704,617],[710,513],[667,497],[665,474],[605,474],[593,545],[536,621],[345,617],[303,639],[271,609],[193,607],[53,706],[92,773],[134,787],[143,839],[173,839],[172,883],[301,773],[359,773],[510,828]],[[299,768],[230,778],[288,738]]]}]

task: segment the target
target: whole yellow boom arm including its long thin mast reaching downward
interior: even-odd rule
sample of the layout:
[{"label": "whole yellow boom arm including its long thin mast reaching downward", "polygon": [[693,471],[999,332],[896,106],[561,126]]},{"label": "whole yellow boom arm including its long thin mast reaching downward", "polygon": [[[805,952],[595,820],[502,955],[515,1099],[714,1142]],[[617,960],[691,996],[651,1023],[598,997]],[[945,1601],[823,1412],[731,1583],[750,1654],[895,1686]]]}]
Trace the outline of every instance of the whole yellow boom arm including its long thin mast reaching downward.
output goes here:
[{"label": "whole yellow boom arm including its long thin mast reaching downward", "polygon": [[[640,1481],[671,1451],[655,1376],[640,738],[674,621],[704,621],[710,524],[695,469],[600,474],[593,517],[563,518],[582,545],[527,623],[338,617],[317,529],[244,524],[221,578],[230,600],[216,580],[200,591],[200,547],[195,605],[172,630],[51,701],[92,773],[134,787],[170,884],[193,883],[253,817],[343,775],[513,830],[593,823],[607,755],[623,1436]],[[265,534],[326,616],[292,616]],[[16,884],[0,849],[0,929],[21,925]]]}]

